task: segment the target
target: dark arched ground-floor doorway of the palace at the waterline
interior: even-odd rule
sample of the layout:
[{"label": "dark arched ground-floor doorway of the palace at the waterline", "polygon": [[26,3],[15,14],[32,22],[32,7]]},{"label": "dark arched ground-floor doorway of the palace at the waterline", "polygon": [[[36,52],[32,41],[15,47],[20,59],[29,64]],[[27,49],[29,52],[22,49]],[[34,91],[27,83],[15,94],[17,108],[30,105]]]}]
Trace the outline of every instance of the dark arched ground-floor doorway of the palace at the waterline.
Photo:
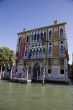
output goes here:
[{"label": "dark arched ground-floor doorway of the palace at the waterline", "polygon": [[33,66],[33,79],[39,80],[39,76],[40,76],[40,65],[36,63]]}]

